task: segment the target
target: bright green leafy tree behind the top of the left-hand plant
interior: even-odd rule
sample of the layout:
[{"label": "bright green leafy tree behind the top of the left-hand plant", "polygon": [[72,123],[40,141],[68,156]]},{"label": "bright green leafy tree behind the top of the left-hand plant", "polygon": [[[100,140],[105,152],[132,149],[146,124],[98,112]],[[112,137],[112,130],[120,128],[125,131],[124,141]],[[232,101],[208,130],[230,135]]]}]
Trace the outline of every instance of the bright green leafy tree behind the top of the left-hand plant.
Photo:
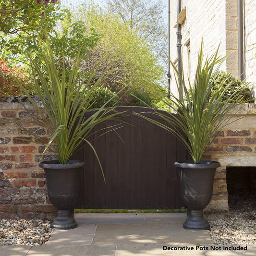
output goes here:
[{"label": "bright green leafy tree behind the top of the left-hand plant", "polygon": [[[47,2],[40,2],[38,5],[50,6]],[[45,20],[48,21],[48,25],[46,24],[43,30],[34,31],[33,29],[35,27],[27,27],[25,31],[22,30],[13,35],[3,35],[5,41],[8,43],[1,49],[1,57],[9,61],[9,66],[14,68],[17,65],[17,61],[14,61],[13,57],[19,61],[28,61],[27,53],[29,53],[35,58],[35,61],[38,61],[37,65],[40,66],[42,70],[45,70],[44,63],[40,63],[39,61],[40,54],[36,45],[38,38],[43,39],[43,45],[46,44],[44,38],[48,35],[51,49],[55,57],[55,63],[59,68],[61,77],[63,63],[65,63],[66,72],[70,72],[78,49],[80,49],[80,56],[85,60],[85,56],[89,50],[96,46],[99,36],[92,26],[87,29],[85,23],[71,20],[71,12],[69,9],[62,9],[60,5],[55,4],[52,5],[50,10],[53,10],[53,7],[55,8],[54,12],[44,15]],[[18,18],[22,17],[17,17],[17,19]],[[14,42],[15,45],[13,45]],[[23,68],[28,76],[33,76],[28,66],[25,65]],[[44,72],[46,73],[46,71]]]}]

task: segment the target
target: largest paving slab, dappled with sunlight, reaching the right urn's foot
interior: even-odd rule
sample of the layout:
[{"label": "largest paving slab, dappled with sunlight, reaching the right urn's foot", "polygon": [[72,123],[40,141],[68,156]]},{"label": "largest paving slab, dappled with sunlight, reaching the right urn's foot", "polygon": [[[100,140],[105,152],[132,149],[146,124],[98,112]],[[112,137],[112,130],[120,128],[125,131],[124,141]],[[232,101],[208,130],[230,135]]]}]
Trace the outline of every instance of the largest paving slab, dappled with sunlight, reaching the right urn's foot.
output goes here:
[{"label": "largest paving slab, dappled with sunlight, reaching the right urn's foot", "polygon": [[170,225],[102,225],[97,226],[92,244],[213,244],[206,231],[181,228],[180,223]]}]

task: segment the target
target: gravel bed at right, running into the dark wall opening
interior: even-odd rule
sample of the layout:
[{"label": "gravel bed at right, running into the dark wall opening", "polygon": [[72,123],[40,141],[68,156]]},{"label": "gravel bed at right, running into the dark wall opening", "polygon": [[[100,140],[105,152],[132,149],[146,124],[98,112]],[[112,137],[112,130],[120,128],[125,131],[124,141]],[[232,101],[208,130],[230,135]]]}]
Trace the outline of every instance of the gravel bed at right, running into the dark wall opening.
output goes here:
[{"label": "gravel bed at right, running into the dark wall opening", "polygon": [[208,231],[215,244],[256,244],[256,200],[250,194],[234,195],[229,198],[228,218],[209,221]]}]

